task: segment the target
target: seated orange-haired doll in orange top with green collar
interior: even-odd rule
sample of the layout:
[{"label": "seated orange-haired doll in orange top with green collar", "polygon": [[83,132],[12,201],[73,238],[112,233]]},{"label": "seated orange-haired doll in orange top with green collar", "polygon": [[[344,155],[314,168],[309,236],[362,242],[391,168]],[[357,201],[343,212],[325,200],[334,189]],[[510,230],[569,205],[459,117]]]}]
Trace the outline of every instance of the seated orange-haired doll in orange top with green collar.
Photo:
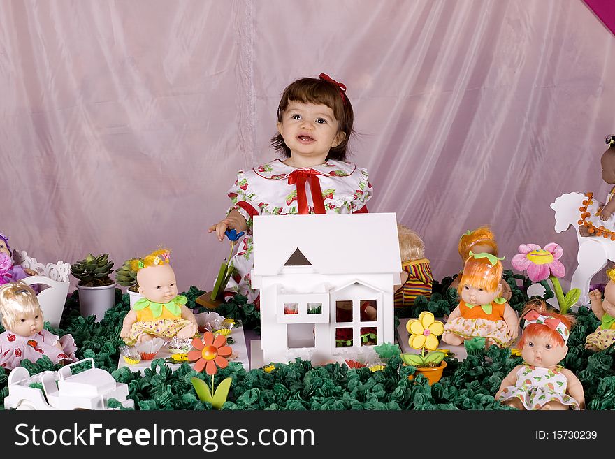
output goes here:
[{"label": "seated orange-haired doll in orange top with green collar", "polygon": [[519,319],[502,293],[502,263],[494,255],[470,251],[457,292],[461,297],[451,312],[442,341],[457,346],[475,337],[487,347],[506,347],[519,335]]}]

